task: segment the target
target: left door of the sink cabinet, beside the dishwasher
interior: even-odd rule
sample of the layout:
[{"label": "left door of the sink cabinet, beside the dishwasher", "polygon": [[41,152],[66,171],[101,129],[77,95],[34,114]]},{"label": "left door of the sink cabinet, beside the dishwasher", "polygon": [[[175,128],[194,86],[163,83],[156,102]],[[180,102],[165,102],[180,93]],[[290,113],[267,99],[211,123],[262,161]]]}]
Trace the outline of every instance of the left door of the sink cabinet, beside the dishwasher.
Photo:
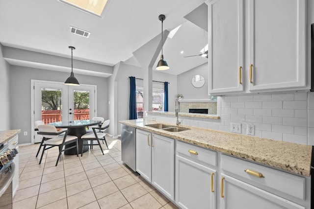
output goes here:
[{"label": "left door of the sink cabinet, beside the dishwasher", "polygon": [[147,181],[152,180],[151,133],[136,129],[136,171]]}]

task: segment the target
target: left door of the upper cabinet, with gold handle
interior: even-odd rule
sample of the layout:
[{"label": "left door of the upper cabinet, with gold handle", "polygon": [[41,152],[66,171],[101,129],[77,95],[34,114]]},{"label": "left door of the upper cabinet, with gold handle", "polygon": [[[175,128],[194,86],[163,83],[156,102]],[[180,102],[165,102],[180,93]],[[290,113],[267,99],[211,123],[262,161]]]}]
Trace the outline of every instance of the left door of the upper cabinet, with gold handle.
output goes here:
[{"label": "left door of the upper cabinet, with gold handle", "polygon": [[243,91],[243,0],[209,2],[209,94]]}]

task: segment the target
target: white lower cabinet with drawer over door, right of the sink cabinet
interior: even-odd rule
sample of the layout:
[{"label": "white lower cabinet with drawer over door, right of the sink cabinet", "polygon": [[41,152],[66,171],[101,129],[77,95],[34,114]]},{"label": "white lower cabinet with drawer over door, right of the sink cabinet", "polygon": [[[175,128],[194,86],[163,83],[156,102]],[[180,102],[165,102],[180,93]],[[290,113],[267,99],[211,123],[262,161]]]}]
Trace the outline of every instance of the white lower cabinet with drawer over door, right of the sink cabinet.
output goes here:
[{"label": "white lower cabinet with drawer over door, right of the sink cabinet", "polygon": [[176,204],[183,209],[216,209],[216,152],[177,141]]}]

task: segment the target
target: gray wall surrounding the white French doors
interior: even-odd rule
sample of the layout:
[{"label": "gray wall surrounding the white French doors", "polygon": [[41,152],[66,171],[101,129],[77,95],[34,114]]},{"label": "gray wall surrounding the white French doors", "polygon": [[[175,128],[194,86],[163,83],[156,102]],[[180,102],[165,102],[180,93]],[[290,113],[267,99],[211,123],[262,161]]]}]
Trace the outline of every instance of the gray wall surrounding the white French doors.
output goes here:
[{"label": "gray wall surrounding the white French doors", "polygon": [[[31,79],[64,82],[70,73],[32,69],[20,66],[10,68],[11,120],[10,129],[21,129],[19,143],[31,142]],[[107,78],[75,74],[79,83],[97,85],[97,116],[107,116]],[[9,109],[9,108],[6,108]],[[3,127],[3,126],[1,126]],[[6,128],[9,129],[9,128]],[[27,131],[28,136],[23,132]]]}]

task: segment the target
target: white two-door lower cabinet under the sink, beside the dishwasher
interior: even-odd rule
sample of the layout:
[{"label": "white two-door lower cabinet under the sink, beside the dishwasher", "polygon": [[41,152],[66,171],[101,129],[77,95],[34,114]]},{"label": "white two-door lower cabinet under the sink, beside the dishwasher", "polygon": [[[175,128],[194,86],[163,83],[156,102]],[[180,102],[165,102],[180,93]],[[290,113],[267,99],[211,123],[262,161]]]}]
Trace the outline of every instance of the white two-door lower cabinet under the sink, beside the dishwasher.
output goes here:
[{"label": "white two-door lower cabinet under the sink, beside the dishwasher", "polygon": [[174,201],[175,140],[136,129],[136,171]]}]

